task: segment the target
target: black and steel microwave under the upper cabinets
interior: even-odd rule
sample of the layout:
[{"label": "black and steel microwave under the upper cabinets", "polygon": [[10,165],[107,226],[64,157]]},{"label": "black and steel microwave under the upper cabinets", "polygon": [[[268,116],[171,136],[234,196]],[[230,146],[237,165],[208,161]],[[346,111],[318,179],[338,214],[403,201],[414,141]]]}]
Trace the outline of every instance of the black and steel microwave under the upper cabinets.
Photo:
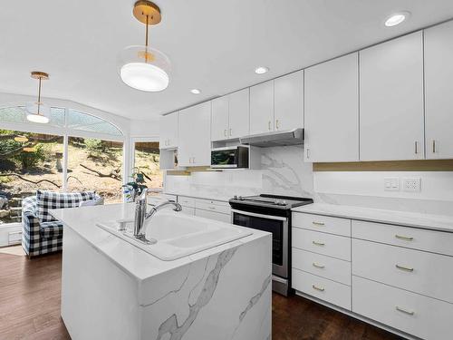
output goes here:
[{"label": "black and steel microwave under the upper cabinets", "polygon": [[248,168],[248,152],[246,146],[228,146],[211,150],[211,168],[240,169]]}]

